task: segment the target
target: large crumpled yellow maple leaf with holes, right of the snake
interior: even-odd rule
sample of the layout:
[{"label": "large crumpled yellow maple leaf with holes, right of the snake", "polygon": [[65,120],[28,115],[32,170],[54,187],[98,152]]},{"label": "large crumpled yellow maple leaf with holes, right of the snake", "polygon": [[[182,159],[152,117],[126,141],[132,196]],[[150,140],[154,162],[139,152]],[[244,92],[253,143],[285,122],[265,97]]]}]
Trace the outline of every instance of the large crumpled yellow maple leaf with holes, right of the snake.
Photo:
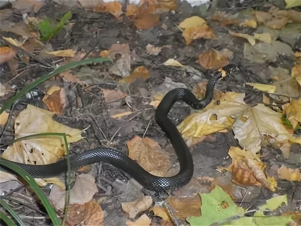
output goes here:
[{"label": "large crumpled yellow maple leaf with holes, right of the snake", "polygon": [[[203,110],[188,116],[178,126],[182,136],[189,142],[193,137],[232,128],[239,144],[257,153],[265,136],[273,137],[275,145],[288,142],[292,134],[283,126],[282,115],[263,104],[246,105],[245,94],[225,93],[213,100]],[[268,137],[266,137],[268,139]]]}]

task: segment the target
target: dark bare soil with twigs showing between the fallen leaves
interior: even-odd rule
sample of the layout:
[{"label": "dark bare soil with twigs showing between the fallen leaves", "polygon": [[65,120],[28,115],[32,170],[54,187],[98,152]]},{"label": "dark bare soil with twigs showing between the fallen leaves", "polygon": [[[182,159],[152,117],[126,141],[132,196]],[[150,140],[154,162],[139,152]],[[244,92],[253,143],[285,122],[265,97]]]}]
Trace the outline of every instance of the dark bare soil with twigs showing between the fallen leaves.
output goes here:
[{"label": "dark bare soil with twigs showing between the fallen leaves", "polygon": [[[261,11],[267,10],[267,6],[262,3],[263,1],[245,0],[242,4],[236,6],[234,2],[219,1],[217,9],[224,9],[228,13],[233,14],[243,8],[253,8]],[[283,3],[282,1],[275,1],[275,5],[277,4],[278,7],[281,7]],[[71,70],[73,74],[81,74],[80,79],[86,81],[89,84],[88,86],[92,86],[90,89],[81,85],[75,85],[74,83],[66,83],[58,76],[55,79],[47,80],[35,87],[35,93],[31,92],[31,96],[27,95],[13,105],[11,109],[12,115],[8,121],[8,125],[5,127],[5,131],[3,131],[4,127],[1,126],[1,133],[3,133],[1,151],[5,150],[13,140],[14,118],[19,112],[27,104],[47,109],[42,102],[45,91],[52,85],[58,85],[67,90],[67,107],[62,115],[55,115],[54,119],[73,128],[83,129],[88,127],[86,131],[87,137],[71,144],[71,154],[104,145],[127,153],[126,141],[138,135],[140,137],[149,137],[158,142],[162,148],[165,148],[171,154],[174,164],[177,164],[177,156],[173,152],[169,140],[154,119],[156,108],[148,104],[151,101],[153,91],[164,83],[166,77],[171,78],[173,82],[185,84],[188,89],[193,89],[198,82],[207,81],[207,78],[204,76],[205,69],[197,62],[198,55],[210,48],[216,50],[227,48],[233,52],[233,58],[230,63],[237,65],[239,70],[233,75],[219,81],[216,88],[222,92],[246,93],[245,102],[249,105],[255,105],[261,101],[262,92],[246,87],[244,84],[246,82],[269,84],[271,78],[268,73],[265,73],[268,72],[269,66],[286,69],[293,67],[294,59],[292,56],[279,55],[276,62],[266,63],[255,63],[245,59],[243,57],[245,40],[229,35],[228,30],[231,29],[234,32],[249,34],[253,31],[250,27],[222,26],[216,21],[208,20],[208,25],[218,36],[222,36],[223,38],[216,40],[197,39],[190,45],[186,45],[182,37],[182,32],[174,24],[178,24],[184,19],[195,15],[198,8],[192,8],[187,2],[179,2],[179,5],[180,7],[178,7],[176,12],[161,13],[160,23],[147,30],[137,30],[133,22],[126,17],[123,21],[116,21],[110,13],[95,13],[82,7],[70,6],[67,1],[65,3],[62,1],[47,1],[37,13],[29,13],[29,16],[40,18],[47,16],[59,20],[62,14],[71,10],[72,19],[70,22],[75,24],[72,26],[71,31],[67,33],[60,31],[55,38],[49,40],[54,50],[77,48],[79,51],[91,52],[98,56],[100,51],[108,50],[113,44],[128,43],[132,55],[131,68],[143,65],[148,68],[150,77],[146,80],[136,79],[135,82],[127,86],[120,85],[117,82],[120,76],[108,73],[108,63],[103,63],[80,66]],[[22,20],[22,16],[21,14],[13,13],[6,20],[16,23]],[[167,26],[166,30],[161,28],[161,24],[163,23]],[[1,35],[16,37],[16,35],[9,32],[1,32]],[[155,46],[171,45],[172,48],[164,48],[157,56],[154,56],[146,53],[145,47],[148,44]],[[292,50],[300,51],[300,49],[301,43],[299,38],[292,44]],[[187,72],[177,67],[162,65],[163,62],[170,58],[177,59],[183,65],[193,67],[195,71]],[[34,79],[50,72],[54,66],[54,61],[54,59],[49,58],[41,60],[31,58],[29,63],[18,60],[18,72],[21,71],[21,68],[25,69],[25,71],[17,79],[10,82],[9,85],[14,87],[15,90],[24,88]],[[8,82],[14,76],[8,65],[2,64],[1,83]],[[129,108],[125,99],[109,104],[106,103],[101,89],[119,89],[130,94],[130,106],[132,109]],[[283,99],[278,100],[278,104],[281,104],[281,101]],[[5,100],[1,100],[1,104],[4,102]],[[124,116],[121,119],[111,117],[114,114],[129,110],[134,111],[135,114]],[[176,125],[179,125],[189,114],[190,107],[179,102],[172,107],[169,118]],[[233,132],[211,134],[201,143],[193,146],[191,148],[194,161],[193,177],[197,179],[224,176],[231,180],[230,174],[216,171],[217,166],[227,166],[231,163],[230,158],[227,157],[231,146],[239,146]],[[263,147],[261,154],[264,156],[262,161],[267,163],[267,171],[274,165],[281,166],[284,164],[291,168],[301,166],[300,146],[297,144],[291,148],[291,154],[288,159],[283,157],[279,149],[272,146]],[[101,200],[101,207],[105,211],[104,225],[125,225],[127,213],[122,210],[121,202],[129,202],[137,199],[138,195],[141,194],[140,187],[134,183],[135,181],[130,180],[129,175],[124,174],[110,164],[94,164],[89,170],[95,176],[95,182],[98,186],[98,192],[94,198]],[[201,185],[201,191],[198,192],[209,191],[209,180],[199,179],[198,183]],[[2,187],[2,189],[9,191],[5,187]],[[45,194],[49,194],[49,185],[44,188],[44,191]],[[184,190],[182,196],[189,196],[191,192],[191,190]],[[288,205],[283,207],[283,211],[300,210],[301,190],[300,182],[298,181],[278,180],[276,192],[269,191],[263,187],[248,186],[244,188],[235,186],[234,193],[239,197],[235,202],[244,208],[259,206],[274,194],[287,194]],[[45,215],[42,214],[44,210],[40,209],[40,211],[37,211],[39,205],[34,202],[33,196],[23,186],[18,186],[13,192],[9,191],[5,197],[21,200],[19,203],[12,202],[11,204],[18,214],[33,217],[24,218],[28,225],[50,224],[49,220],[45,219]],[[151,217],[152,225],[162,225],[160,223],[161,218],[154,216],[152,211],[146,210],[140,213],[140,215],[143,213]],[[187,222],[182,220],[179,221],[179,224],[185,225]]]}]

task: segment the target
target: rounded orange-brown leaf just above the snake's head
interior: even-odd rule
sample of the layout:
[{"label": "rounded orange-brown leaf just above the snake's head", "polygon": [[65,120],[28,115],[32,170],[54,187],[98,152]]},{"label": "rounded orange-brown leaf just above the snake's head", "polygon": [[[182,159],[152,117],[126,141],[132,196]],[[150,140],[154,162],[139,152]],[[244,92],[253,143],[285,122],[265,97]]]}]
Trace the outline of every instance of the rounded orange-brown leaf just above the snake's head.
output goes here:
[{"label": "rounded orange-brown leaf just above the snake's head", "polygon": [[205,69],[219,69],[229,64],[228,58],[214,49],[198,55],[198,62]]}]

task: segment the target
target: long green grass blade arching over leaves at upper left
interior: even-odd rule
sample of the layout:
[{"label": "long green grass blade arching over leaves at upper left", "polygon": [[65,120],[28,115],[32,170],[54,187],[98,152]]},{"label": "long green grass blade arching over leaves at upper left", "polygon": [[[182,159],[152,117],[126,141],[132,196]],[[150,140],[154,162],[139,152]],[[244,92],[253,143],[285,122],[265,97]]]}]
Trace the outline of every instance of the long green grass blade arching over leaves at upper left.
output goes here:
[{"label": "long green grass blade arching over leaves at upper left", "polygon": [[28,93],[35,86],[39,85],[42,82],[45,82],[48,78],[51,78],[52,76],[54,76],[54,75],[56,75],[58,73],[61,73],[61,72],[65,71],[66,69],[71,68],[71,67],[77,67],[79,65],[90,64],[90,63],[102,63],[102,62],[105,62],[105,61],[110,61],[110,59],[109,58],[105,58],[105,57],[100,57],[100,58],[91,58],[91,59],[86,59],[86,60],[82,60],[82,61],[71,62],[71,63],[68,63],[68,64],[66,64],[64,66],[61,66],[61,67],[55,69],[54,71],[52,71],[52,72],[50,72],[48,74],[45,74],[44,76],[38,78],[33,83],[29,84],[27,87],[25,87],[24,89],[22,89],[16,95],[14,95],[10,99],[8,99],[8,101],[6,101],[6,103],[1,108],[0,115],[2,114],[2,112],[4,110],[8,109],[9,106],[13,102],[15,102],[16,100],[18,100],[21,96],[23,96],[26,93]]}]

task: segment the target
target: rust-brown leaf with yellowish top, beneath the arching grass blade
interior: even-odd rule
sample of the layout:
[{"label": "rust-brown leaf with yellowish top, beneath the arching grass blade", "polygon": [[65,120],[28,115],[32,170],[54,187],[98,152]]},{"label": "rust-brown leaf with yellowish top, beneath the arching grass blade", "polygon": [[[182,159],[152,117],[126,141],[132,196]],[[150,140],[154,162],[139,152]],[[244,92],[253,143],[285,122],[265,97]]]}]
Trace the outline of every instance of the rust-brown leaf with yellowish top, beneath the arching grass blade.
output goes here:
[{"label": "rust-brown leaf with yellowish top, beneath the arching grass blade", "polygon": [[42,101],[52,113],[61,115],[66,107],[65,90],[59,86],[51,86]]}]

